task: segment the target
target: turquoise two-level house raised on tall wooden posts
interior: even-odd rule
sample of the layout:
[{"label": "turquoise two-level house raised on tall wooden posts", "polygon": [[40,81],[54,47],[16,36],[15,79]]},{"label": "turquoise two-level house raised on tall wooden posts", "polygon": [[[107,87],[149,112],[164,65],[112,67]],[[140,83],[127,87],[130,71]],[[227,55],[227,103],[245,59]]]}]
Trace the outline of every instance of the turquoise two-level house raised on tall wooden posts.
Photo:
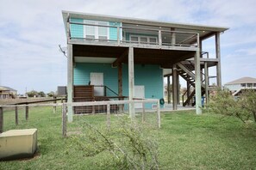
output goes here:
[{"label": "turquoise two-level house raised on tall wooden posts", "polygon": [[[209,92],[209,67],[222,86],[220,34],[228,28],[150,21],[62,11],[67,39],[67,103],[93,100],[164,98],[164,77],[172,76],[173,109],[178,103],[178,75],[188,83],[186,106]],[[202,52],[215,37],[215,58]],[[170,70],[171,71],[166,71]],[[129,107],[131,109],[132,107]],[[134,109],[134,108],[132,108]],[[69,121],[76,109],[68,106]]]}]

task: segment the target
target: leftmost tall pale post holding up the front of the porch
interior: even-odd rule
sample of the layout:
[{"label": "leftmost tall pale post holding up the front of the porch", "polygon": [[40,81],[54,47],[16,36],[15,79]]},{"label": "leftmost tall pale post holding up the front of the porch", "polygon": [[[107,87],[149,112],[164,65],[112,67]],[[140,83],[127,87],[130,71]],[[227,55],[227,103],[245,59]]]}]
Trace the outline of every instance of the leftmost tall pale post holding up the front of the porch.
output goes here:
[{"label": "leftmost tall pale post holding up the front of the porch", "polygon": [[67,45],[67,112],[68,122],[73,121],[72,99],[73,99],[73,48]]}]

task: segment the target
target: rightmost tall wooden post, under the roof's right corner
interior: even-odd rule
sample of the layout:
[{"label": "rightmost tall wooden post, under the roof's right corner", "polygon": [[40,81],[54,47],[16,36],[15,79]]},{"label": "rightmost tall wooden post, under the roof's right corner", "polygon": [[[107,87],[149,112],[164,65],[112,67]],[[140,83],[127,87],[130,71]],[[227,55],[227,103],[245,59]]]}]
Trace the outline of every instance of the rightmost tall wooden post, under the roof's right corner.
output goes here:
[{"label": "rightmost tall wooden post, under the roof's right corner", "polygon": [[220,33],[215,33],[215,53],[218,58],[216,73],[217,73],[217,86],[222,88],[222,68],[221,68],[221,46],[220,46]]}]

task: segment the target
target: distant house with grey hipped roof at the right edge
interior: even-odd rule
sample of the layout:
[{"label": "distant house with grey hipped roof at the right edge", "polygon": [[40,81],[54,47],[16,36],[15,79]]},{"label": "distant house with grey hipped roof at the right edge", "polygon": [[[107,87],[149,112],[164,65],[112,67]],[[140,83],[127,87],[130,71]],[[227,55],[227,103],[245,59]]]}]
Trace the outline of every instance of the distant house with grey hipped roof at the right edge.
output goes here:
[{"label": "distant house with grey hipped roof at the right edge", "polygon": [[242,89],[256,89],[256,78],[242,77],[233,82],[226,83],[224,87],[228,88],[233,95],[236,95],[239,94]]}]

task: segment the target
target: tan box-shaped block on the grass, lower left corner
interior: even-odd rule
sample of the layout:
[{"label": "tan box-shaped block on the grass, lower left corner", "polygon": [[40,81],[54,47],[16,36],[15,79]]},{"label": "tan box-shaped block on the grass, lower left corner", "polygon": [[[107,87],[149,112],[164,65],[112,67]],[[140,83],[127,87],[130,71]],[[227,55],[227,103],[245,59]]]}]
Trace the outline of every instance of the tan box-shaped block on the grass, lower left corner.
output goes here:
[{"label": "tan box-shaped block on the grass, lower left corner", "polygon": [[37,148],[37,129],[11,130],[0,134],[0,160],[32,157]]}]

